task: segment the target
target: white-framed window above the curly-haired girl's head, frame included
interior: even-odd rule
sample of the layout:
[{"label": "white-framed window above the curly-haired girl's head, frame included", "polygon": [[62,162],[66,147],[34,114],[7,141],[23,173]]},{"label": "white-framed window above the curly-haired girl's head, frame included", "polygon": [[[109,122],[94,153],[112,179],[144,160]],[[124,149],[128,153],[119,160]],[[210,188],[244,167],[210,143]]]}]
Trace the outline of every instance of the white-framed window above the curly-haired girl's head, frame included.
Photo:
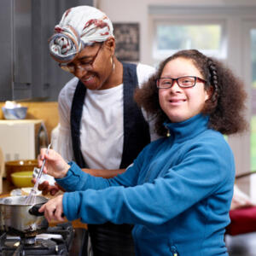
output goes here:
[{"label": "white-framed window above the curly-haired girl's head, frame included", "polygon": [[156,21],[154,33],[156,61],[180,49],[199,49],[206,55],[225,57],[223,23],[208,20],[189,23]]}]

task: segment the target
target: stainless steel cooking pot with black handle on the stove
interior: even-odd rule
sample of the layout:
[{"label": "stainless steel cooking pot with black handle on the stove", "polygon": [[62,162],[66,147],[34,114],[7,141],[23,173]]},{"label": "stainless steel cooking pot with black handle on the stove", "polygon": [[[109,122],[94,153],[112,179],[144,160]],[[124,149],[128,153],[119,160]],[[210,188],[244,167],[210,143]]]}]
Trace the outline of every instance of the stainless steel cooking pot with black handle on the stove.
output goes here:
[{"label": "stainless steel cooking pot with black handle on the stove", "polygon": [[9,235],[27,237],[36,236],[48,228],[44,212],[38,212],[48,200],[44,196],[36,196],[35,205],[28,205],[25,204],[26,197],[20,195],[0,199],[0,230]]}]

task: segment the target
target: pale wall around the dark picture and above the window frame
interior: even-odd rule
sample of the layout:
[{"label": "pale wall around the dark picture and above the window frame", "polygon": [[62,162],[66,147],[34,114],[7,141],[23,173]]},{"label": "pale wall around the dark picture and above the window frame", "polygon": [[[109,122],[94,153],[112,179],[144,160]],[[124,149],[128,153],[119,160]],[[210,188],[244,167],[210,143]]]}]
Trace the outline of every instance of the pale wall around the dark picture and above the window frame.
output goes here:
[{"label": "pale wall around the dark picture and above the window frame", "polygon": [[153,65],[152,40],[148,7],[150,6],[256,6],[255,0],[97,0],[96,7],[102,9],[113,22],[138,22],[140,26],[140,61]]}]

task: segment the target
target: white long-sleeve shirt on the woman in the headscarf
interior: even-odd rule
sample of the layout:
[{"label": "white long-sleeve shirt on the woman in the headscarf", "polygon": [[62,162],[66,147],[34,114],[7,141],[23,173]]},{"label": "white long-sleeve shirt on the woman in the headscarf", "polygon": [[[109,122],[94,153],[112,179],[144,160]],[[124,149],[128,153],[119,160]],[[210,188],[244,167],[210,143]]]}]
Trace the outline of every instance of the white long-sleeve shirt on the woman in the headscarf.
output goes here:
[{"label": "white long-sleeve shirt on the woman in the headscarf", "polygon": [[[137,65],[138,86],[141,86],[155,72],[154,67]],[[70,111],[73,94],[79,79],[71,79],[59,95],[60,125],[53,148],[65,160],[73,160],[70,127]],[[153,120],[148,121],[151,140],[154,140]],[[107,90],[86,90],[83,115],[80,125],[81,152],[90,168],[118,169],[124,142],[123,84]]]}]

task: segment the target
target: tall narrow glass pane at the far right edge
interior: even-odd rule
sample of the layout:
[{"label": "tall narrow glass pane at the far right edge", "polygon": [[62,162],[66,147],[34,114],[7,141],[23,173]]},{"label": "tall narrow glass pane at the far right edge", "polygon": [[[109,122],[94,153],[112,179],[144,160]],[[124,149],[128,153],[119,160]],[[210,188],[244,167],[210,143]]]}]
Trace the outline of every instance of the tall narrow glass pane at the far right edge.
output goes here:
[{"label": "tall narrow glass pane at the far right edge", "polygon": [[251,116],[251,170],[256,171],[256,29],[251,30],[252,52],[252,116]]}]

